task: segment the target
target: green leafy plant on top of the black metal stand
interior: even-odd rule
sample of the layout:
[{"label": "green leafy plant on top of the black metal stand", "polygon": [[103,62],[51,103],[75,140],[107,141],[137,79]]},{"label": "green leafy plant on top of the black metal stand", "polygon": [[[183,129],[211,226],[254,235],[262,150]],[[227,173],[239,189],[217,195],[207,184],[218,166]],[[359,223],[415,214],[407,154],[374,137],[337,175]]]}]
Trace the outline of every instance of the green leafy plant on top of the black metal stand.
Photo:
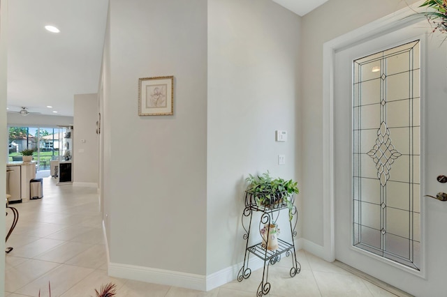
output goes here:
[{"label": "green leafy plant on top of the black metal stand", "polygon": [[288,218],[292,220],[293,195],[300,192],[296,181],[272,178],[270,172],[265,172],[261,176],[249,174],[246,181],[249,183],[247,193],[254,197],[257,206],[264,206],[265,208],[287,206]]}]

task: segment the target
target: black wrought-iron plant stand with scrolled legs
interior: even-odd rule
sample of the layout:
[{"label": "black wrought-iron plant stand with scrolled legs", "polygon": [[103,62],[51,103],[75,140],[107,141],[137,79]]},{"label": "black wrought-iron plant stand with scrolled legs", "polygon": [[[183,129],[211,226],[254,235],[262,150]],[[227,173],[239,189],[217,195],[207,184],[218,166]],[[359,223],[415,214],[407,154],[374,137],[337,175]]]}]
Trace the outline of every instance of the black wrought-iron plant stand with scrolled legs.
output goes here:
[{"label": "black wrought-iron plant stand with scrolled legs", "polygon": [[[242,227],[244,228],[244,240],[247,241],[245,245],[245,255],[244,255],[244,264],[242,268],[240,268],[239,273],[237,273],[237,280],[242,282],[242,280],[247,279],[251,275],[251,269],[249,268],[249,257],[250,254],[254,254],[256,257],[262,259],[264,261],[263,266],[263,278],[261,283],[259,284],[258,291],[256,292],[256,296],[261,297],[263,295],[267,295],[270,291],[270,282],[268,281],[268,268],[270,265],[274,265],[281,260],[281,255],[286,254],[286,257],[292,256],[292,268],[290,271],[291,277],[294,277],[301,271],[301,265],[296,259],[295,252],[295,241],[294,237],[297,232],[295,231],[296,224],[298,222],[298,212],[296,206],[293,204],[295,201],[295,195],[292,195],[289,198],[292,202],[291,209],[291,220],[290,228],[291,228],[291,242],[284,241],[278,238],[278,248],[277,250],[268,250],[268,241],[270,238],[270,229],[268,229],[268,234],[265,242],[257,243],[255,245],[249,246],[249,238],[250,238],[250,230],[251,230],[251,222],[253,218],[253,213],[256,211],[261,212],[261,219],[259,222],[259,228],[263,227],[265,224],[270,225],[271,222],[276,222],[277,218],[279,218],[279,213],[287,213],[288,207],[285,201],[279,201],[277,204],[272,204],[269,207],[266,206],[258,206],[256,204],[256,200],[254,195],[249,192],[245,192],[245,208],[244,213],[242,213]],[[284,210],[284,211],[283,211]],[[248,228],[246,227],[248,224]]]}]

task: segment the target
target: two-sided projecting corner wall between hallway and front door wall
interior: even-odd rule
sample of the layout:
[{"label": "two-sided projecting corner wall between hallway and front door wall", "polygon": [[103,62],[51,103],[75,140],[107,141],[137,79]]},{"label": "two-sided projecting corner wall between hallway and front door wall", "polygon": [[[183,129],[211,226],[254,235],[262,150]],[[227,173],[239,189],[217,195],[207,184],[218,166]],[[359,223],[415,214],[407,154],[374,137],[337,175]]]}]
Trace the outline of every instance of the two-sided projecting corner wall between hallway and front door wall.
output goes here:
[{"label": "two-sided projecting corner wall between hallway and front door wall", "polygon": [[[299,31],[300,17],[270,0],[110,1],[101,101],[110,275],[199,289],[234,279],[222,271],[244,257],[244,178],[301,179]],[[138,116],[138,78],[163,75],[175,76],[174,116]],[[275,142],[275,130],[288,141]]]}]

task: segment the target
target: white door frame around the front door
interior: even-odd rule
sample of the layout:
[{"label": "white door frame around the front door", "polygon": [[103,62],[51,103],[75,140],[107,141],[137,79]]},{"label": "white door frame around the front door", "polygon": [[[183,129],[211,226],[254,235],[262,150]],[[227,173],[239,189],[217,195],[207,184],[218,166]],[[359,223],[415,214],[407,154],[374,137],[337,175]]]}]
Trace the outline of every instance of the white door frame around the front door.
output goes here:
[{"label": "white door frame around the front door", "polygon": [[[334,63],[335,53],[362,40],[383,35],[425,19],[425,10],[418,1],[411,6],[366,24],[354,31],[332,39],[323,45],[323,254],[325,261],[335,261],[334,209]],[[423,229],[421,228],[421,231]],[[425,274],[425,269],[423,274]],[[423,276],[423,275],[421,275]],[[423,276],[424,277],[424,276]]]}]

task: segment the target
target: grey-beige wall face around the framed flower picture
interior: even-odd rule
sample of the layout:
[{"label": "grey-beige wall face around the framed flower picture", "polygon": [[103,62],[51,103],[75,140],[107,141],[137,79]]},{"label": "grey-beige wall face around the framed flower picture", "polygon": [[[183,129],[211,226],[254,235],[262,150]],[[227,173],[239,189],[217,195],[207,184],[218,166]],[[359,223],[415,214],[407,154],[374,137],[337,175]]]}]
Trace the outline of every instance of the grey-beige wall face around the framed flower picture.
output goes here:
[{"label": "grey-beige wall face around the framed flower picture", "polygon": [[[205,275],[207,1],[111,0],[109,41],[110,261]],[[138,78],[165,75],[174,115],[138,116]]]}]

